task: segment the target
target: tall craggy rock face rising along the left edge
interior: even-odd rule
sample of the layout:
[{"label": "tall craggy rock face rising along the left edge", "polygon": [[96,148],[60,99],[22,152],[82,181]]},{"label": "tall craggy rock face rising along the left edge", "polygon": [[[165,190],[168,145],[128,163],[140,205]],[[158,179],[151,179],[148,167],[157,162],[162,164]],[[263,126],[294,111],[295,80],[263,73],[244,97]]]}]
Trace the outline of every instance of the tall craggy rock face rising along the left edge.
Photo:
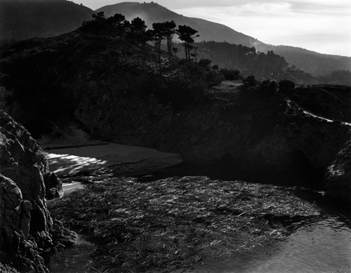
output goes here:
[{"label": "tall craggy rock face rising along the left edge", "polygon": [[19,271],[48,271],[39,255],[53,248],[45,176],[51,173],[40,147],[0,111],[0,262]]}]

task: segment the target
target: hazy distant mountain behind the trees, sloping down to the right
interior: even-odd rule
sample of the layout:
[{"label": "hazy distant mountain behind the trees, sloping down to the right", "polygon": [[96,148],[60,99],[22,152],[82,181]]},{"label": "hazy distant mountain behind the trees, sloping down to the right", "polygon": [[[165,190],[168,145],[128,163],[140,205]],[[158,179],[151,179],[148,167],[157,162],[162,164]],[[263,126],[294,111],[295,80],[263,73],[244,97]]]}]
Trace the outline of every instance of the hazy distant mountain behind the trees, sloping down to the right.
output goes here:
[{"label": "hazy distant mountain behind the trees, sloping down to the right", "polygon": [[[262,41],[258,41],[251,36],[237,32],[225,25],[220,25],[199,18],[187,18],[178,13],[174,13],[173,11],[169,11],[167,8],[155,3],[140,4],[126,2],[103,6],[97,11],[104,11],[107,16],[121,13],[125,15],[128,20],[140,17],[145,20],[149,27],[152,27],[152,22],[174,20],[177,25],[189,25],[190,27],[197,29],[200,36],[196,41],[227,41],[227,43],[230,44],[241,44],[248,47],[255,46],[258,51],[263,53],[273,51],[275,54],[284,57],[286,62],[289,62],[290,65],[294,65],[312,76],[331,74],[333,71],[337,70],[350,71],[351,69],[350,57],[321,54],[293,46],[272,46],[265,44]],[[226,66],[224,62],[218,62],[217,64],[220,67]]]}]

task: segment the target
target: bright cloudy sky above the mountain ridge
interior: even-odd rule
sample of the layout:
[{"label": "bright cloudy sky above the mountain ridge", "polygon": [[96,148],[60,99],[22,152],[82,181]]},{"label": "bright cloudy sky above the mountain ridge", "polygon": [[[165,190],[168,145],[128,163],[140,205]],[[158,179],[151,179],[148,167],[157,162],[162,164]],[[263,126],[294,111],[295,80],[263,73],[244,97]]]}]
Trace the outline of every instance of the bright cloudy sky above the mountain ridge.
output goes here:
[{"label": "bright cloudy sky above the mountain ridge", "polygon": [[[74,0],[93,10],[133,0]],[[150,1],[145,1],[150,2]],[[227,25],[265,44],[351,56],[351,0],[154,0],[176,13]]]}]

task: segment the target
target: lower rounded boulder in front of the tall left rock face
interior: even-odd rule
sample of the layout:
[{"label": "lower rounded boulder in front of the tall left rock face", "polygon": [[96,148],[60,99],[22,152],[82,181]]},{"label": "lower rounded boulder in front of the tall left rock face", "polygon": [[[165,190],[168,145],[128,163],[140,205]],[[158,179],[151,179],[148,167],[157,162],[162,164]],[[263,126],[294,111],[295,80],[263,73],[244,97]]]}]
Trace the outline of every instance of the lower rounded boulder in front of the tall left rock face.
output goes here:
[{"label": "lower rounded boulder in front of the tall left rock face", "polygon": [[[24,272],[48,272],[38,253],[38,242],[46,248],[53,246],[47,225],[29,234],[32,203],[22,198],[20,188],[10,178],[0,174],[0,261]],[[37,213],[39,214],[39,213]],[[37,217],[38,218],[38,217]],[[48,219],[49,223],[51,218]],[[37,225],[38,229],[38,225]]]}]

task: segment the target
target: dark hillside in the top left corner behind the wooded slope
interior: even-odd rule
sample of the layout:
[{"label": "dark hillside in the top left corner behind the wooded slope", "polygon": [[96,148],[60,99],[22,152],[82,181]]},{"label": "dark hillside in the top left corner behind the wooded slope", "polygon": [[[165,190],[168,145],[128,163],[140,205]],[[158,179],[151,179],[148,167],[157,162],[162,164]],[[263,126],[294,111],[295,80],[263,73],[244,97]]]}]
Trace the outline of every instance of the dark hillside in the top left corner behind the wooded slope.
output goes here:
[{"label": "dark hillside in the top left corner behind the wooded slope", "polygon": [[0,41],[72,32],[92,14],[90,8],[66,0],[1,0]]}]

